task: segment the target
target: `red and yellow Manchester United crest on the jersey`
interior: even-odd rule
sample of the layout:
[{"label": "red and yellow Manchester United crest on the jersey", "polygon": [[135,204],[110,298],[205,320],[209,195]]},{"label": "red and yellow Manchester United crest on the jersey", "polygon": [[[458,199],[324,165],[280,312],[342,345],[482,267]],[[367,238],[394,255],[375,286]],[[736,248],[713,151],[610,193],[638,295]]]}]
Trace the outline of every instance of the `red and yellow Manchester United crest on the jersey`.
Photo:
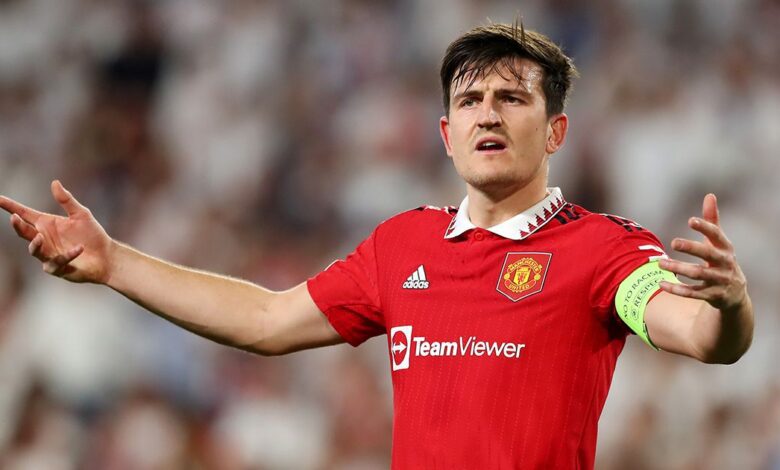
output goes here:
[{"label": "red and yellow Manchester United crest on the jersey", "polygon": [[509,252],[504,258],[496,290],[517,302],[544,288],[552,253]]}]

